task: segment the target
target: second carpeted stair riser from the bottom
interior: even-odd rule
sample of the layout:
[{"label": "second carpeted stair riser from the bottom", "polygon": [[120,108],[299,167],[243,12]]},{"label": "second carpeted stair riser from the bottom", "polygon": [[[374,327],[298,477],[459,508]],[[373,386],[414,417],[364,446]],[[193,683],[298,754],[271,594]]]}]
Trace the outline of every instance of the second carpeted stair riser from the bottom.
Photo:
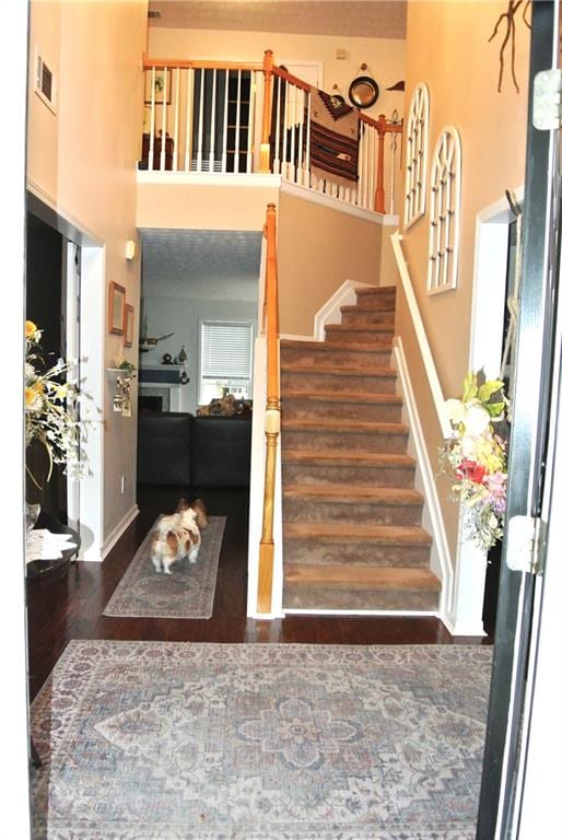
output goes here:
[{"label": "second carpeted stair riser from the bottom", "polygon": [[372,542],[319,542],[315,539],[284,539],[283,564],[286,565],[288,563],[428,569],[430,549],[428,546],[378,546]]}]

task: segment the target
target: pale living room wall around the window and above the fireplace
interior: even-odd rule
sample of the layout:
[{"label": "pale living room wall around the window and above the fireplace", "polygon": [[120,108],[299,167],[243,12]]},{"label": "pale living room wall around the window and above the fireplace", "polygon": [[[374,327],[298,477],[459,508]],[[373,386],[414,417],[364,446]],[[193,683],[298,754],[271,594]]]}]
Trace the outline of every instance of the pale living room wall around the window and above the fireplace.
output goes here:
[{"label": "pale living room wall around the window and above the fireplace", "polygon": [[140,364],[159,364],[164,353],[175,358],[182,345],[187,353],[187,375],[189,383],[180,388],[179,410],[195,415],[197,409],[197,383],[199,372],[199,322],[206,318],[224,320],[253,320],[254,336],[258,329],[258,281],[256,279],[256,299],[247,301],[213,301],[191,298],[143,299],[143,314],[154,336],[174,332],[172,338],[159,341],[154,350],[141,353]]}]

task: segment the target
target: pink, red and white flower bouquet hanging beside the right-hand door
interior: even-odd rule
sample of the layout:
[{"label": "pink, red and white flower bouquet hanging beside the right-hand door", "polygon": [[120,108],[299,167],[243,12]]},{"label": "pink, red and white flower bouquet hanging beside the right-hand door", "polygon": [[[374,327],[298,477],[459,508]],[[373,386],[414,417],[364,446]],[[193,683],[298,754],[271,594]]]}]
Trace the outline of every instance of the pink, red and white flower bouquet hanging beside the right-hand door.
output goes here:
[{"label": "pink, red and white flower bouquet hanging beside the right-hand door", "polygon": [[507,486],[507,441],[496,424],[507,399],[501,380],[468,373],[463,397],[447,399],[453,436],[440,450],[444,470],[453,477],[452,498],[465,505],[466,535],[488,551],[503,536]]}]

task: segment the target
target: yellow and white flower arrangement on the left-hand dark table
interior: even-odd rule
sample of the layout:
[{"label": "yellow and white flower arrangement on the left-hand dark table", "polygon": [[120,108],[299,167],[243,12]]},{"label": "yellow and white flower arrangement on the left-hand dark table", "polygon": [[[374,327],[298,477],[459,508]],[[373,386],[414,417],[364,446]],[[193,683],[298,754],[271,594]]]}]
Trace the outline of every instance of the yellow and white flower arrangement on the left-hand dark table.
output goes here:
[{"label": "yellow and white flower arrangement on the left-hand dark table", "polygon": [[[46,368],[39,352],[42,330],[25,322],[25,444],[39,441],[49,458],[47,481],[54,464],[63,464],[72,478],[92,475],[82,447],[91,420],[81,417],[81,406],[91,397],[77,385],[61,381],[73,364],[59,359]],[[31,472],[30,472],[31,475]],[[38,483],[33,475],[32,480]]]}]

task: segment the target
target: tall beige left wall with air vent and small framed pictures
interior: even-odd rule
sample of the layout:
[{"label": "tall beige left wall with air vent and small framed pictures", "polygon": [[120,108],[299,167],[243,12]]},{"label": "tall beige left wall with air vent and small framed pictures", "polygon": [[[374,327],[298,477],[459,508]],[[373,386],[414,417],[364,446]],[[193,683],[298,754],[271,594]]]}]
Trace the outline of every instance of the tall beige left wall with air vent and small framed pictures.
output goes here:
[{"label": "tall beige left wall with air vent and small framed pictures", "polygon": [[[35,46],[58,83],[57,115],[37,95],[28,98],[30,187],[105,246],[106,284],[126,288],[138,319],[140,264],[127,264],[125,243],[136,240],[136,161],[142,120],[141,56],[147,0],[32,2],[31,73]],[[110,366],[121,338],[108,335]],[[134,335],[138,336],[136,326]],[[137,347],[128,357],[137,363]],[[136,501],[136,418],[114,415],[105,389],[104,536]],[[119,477],[128,477],[120,493]]]}]

